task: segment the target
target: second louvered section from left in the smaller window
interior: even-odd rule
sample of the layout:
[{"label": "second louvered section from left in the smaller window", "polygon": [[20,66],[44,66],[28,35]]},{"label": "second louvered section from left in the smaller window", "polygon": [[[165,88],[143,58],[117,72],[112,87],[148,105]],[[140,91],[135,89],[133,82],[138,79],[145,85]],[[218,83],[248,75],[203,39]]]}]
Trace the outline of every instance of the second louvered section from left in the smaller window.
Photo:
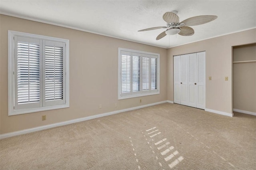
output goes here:
[{"label": "second louvered section from left in the smaller window", "polygon": [[140,91],[140,57],[132,57],[132,92]]}]

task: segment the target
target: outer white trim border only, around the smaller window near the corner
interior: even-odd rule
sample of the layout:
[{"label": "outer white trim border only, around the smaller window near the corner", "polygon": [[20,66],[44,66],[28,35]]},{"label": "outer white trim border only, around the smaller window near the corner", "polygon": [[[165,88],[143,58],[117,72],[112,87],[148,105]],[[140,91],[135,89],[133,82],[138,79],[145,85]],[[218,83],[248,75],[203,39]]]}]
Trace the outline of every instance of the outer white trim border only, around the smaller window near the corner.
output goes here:
[{"label": "outer white trim border only, around the smaller window near the corner", "polygon": [[[141,93],[133,94],[133,95],[121,95],[121,51],[128,51],[132,53],[143,53],[146,55],[157,55],[158,56],[158,69],[157,69],[157,87],[158,91],[157,92],[151,92],[151,93],[146,93],[145,91],[142,91]],[[126,49],[126,48],[118,48],[118,100],[121,99],[129,99],[129,98],[134,98],[134,97],[142,97],[142,96],[149,96],[149,95],[158,95],[160,94],[160,54],[159,53],[151,53],[147,51],[139,51],[139,50],[134,50],[134,49]]]}]

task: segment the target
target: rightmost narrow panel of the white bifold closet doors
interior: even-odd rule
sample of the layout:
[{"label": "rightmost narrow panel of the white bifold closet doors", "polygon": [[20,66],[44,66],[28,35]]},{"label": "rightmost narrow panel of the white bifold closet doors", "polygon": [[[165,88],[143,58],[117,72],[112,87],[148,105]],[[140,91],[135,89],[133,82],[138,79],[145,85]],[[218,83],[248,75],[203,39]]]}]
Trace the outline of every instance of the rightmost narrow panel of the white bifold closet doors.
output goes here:
[{"label": "rightmost narrow panel of the white bifold closet doors", "polygon": [[205,109],[205,52],[196,53],[197,59],[197,101],[196,107]]}]

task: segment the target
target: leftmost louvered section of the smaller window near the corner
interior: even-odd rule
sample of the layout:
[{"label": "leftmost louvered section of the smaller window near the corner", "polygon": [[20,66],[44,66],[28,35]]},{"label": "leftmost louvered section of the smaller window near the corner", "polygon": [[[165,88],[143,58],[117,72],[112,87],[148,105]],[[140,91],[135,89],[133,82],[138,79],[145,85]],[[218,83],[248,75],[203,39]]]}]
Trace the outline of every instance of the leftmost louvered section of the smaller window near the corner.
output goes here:
[{"label": "leftmost louvered section of the smaller window near the corner", "polygon": [[121,93],[131,92],[131,55],[122,54],[121,79]]}]

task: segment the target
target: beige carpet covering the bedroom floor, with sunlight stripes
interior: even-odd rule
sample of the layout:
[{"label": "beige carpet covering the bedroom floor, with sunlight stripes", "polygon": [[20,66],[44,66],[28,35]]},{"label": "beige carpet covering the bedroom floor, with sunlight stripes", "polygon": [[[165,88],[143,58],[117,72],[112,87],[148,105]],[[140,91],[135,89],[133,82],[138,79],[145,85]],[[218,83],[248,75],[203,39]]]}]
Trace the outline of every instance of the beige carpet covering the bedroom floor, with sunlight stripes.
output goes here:
[{"label": "beige carpet covering the bedroom floor, with sunlight stripes", "polygon": [[0,140],[0,168],[256,169],[256,117],[161,104]]}]

